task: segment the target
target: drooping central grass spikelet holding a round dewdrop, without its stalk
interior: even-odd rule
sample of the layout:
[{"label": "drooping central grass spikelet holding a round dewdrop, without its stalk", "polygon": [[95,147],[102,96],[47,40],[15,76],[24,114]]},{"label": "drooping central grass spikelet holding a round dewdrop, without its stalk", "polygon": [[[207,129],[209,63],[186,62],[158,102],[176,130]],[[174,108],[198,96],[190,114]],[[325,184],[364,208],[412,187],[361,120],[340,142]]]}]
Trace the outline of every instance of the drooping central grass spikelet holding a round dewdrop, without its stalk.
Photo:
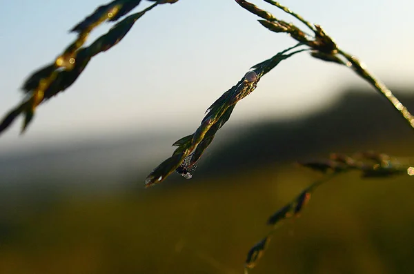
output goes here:
[{"label": "drooping central grass spikelet holding a round dewdrop, without its stalk", "polygon": [[176,141],[172,146],[178,148],[172,156],[162,162],[146,179],[146,186],[162,182],[168,175],[177,170],[186,173],[211,144],[217,131],[228,121],[238,101],[249,95],[257,87],[259,80],[282,60],[304,51],[297,49],[302,43],[288,48],[272,58],[253,66],[235,86],[224,92],[206,111],[206,116],[195,133]]}]

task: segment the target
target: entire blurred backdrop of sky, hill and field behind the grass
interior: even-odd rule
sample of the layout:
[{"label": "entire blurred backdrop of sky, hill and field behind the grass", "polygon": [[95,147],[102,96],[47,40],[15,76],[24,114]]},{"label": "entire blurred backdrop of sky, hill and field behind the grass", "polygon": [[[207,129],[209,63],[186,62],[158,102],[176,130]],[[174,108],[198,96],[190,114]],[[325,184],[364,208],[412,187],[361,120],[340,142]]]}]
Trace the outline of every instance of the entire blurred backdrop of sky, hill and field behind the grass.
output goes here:
[{"label": "entire blurred backdrop of sky, hill and field behind the grass", "polygon": [[[68,30],[102,2],[1,4],[6,113],[23,97],[23,80],[55,59],[75,37]],[[322,25],[413,112],[414,3],[282,4]],[[159,6],[41,105],[24,135],[21,121],[3,134],[0,273],[242,273],[268,216],[320,178],[297,161],[364,150],[414,156],[412,130],[373,88],[303,53],[237,105],[193,179],[173,174],[145,189],[146,175],[215,99],[295,43],[256,19],[231,0]],[[252,273],[413,273],[413,194],[408,176],[337,177],[279,228]]]}]

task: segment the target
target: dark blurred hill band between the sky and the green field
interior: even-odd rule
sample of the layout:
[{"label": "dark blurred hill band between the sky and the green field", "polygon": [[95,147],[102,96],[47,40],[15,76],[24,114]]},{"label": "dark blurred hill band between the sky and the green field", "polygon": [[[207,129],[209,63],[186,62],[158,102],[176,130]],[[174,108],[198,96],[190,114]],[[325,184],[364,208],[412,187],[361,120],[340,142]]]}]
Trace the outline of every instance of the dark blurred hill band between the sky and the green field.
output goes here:
[{"label": "dark blurred hill band between the sky and the green field", "polygon": [[[241,129],[230,119],[201,157],[197,177],[326,157],[334,151],[382,149],[391,142],[402,148],[389,153],[414,155],[414,131],[385,99],[373,90],[350,88],[343,94],[336,104],[303,119],[262,121],[240,126]],[[398,90],[396,94],[414,112],[414,96]],[[168,136],[130,136],[67,148],[51,147],[27,155],[0,155],[0,186],[48,182],[103,188],[131,184],[139,178],[144,182],[150,170],[170,155],[172,148],[165,148],[170,148],[175,139]]]}]

